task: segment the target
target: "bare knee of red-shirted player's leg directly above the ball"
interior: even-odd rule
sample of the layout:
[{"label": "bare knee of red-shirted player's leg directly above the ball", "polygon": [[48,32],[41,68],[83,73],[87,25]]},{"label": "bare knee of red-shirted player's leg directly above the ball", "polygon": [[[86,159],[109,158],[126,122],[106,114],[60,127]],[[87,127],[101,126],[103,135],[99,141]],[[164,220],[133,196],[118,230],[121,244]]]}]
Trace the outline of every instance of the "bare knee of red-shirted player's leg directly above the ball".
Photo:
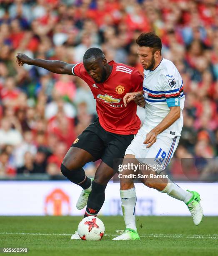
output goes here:
[{"label": "bare knee of red-shirted player's leg directly above the ball", "polygon": [[102,161],[95,172],[94,181],[96,183],[106,185],[113,177],[113,174],[113,168],[111,168],[110,166],[108,166],[108,164],[105,164],[105,162]]}]

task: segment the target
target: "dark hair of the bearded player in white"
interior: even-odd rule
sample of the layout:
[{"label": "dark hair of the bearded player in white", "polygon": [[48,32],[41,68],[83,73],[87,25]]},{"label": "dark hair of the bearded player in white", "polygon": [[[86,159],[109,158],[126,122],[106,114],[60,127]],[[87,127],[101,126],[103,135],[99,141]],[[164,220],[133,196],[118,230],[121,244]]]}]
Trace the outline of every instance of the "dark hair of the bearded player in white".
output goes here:
[{"label": "dark hair of the bearded player in white", "polygon": [[136,44],[138,44],[141,47],[146,46],[146,47],[153,48],[153,53],[159,50],[161,55],[161,49],[162,49],[161,39],[159,36],[157,36],[153,32],[141,33],[140,36],[138,36],[138,38],[136,39]]}]

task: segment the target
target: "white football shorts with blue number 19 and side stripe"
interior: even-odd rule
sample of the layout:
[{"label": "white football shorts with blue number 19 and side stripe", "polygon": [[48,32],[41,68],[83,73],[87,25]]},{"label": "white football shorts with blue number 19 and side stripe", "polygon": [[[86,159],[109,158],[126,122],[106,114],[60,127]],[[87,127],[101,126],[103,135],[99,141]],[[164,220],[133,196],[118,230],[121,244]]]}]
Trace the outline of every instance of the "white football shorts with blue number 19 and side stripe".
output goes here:
[{"label": "white football shorts with blue number 19 and side stripe", "polygon": [[131,144],[126,149],[125,155],[134,155],[141,164],[152,166],[154,164],[160,165],[161,169],[156,170],[160,173],[170,163],[170,159],[172,159],[178,146],[180,136],[170,138],[169,136],[160,133],[157,136],[157,141],[150,148],[146,148],[147,145],[143,144],[146,134],[147,133],[144,131],[143,127],[141,127]]}]

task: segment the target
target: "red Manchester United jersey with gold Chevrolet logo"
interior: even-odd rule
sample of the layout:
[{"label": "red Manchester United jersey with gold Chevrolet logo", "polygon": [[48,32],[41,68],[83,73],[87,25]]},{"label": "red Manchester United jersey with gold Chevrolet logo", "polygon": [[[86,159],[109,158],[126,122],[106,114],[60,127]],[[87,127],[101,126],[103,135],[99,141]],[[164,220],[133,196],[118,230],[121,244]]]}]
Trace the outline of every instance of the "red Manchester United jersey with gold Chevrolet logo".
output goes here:
[{"label": "red Manchester United jersey with gold Chevrolet logo", "polygon": [[85,70],[83,63],[75,64],[72,72],[90,87],[96,100],[100,125],[106,131],[122,135],[136,134],[140,128],[140,119],[136,115],[137,105],[131,101],[124,107],[123,97],[127,92],[143,90],[143,76],[137,69],[125,64],[115,61],[108,64],[113,69],[103,83],[96,83]]}]

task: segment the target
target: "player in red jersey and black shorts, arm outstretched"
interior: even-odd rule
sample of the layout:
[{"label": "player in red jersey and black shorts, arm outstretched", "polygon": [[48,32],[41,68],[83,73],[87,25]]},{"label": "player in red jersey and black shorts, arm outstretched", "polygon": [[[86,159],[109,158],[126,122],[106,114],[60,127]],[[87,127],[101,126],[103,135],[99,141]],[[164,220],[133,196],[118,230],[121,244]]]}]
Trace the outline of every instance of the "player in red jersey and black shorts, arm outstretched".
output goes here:
[{"label": "player in red jersey and black shorts, arm outstretched", "polygon": [[[74,141],[61,164],[61,172],[71,182],[83,188],[77,208],[87,205],[85,217],[96,216],[105,200],[105,188],[113,177],[113,159],[123,158],[126,148],[140,128],[137,105],[132,101],[124,106],[127,92],[142,92],[143,76],[133,67],[115,61],[107,62],[98,48],[88,49],[83,63],[31,59],[17,54],[18,65],[29,64],[58,74],[76,75],[90,87],[96,100],[98,119]],[[83,166],[102,159],[92,181]],[[88,202],[87,202],[88,200]],[[78,234],[72,239],[80,239]]]}]

